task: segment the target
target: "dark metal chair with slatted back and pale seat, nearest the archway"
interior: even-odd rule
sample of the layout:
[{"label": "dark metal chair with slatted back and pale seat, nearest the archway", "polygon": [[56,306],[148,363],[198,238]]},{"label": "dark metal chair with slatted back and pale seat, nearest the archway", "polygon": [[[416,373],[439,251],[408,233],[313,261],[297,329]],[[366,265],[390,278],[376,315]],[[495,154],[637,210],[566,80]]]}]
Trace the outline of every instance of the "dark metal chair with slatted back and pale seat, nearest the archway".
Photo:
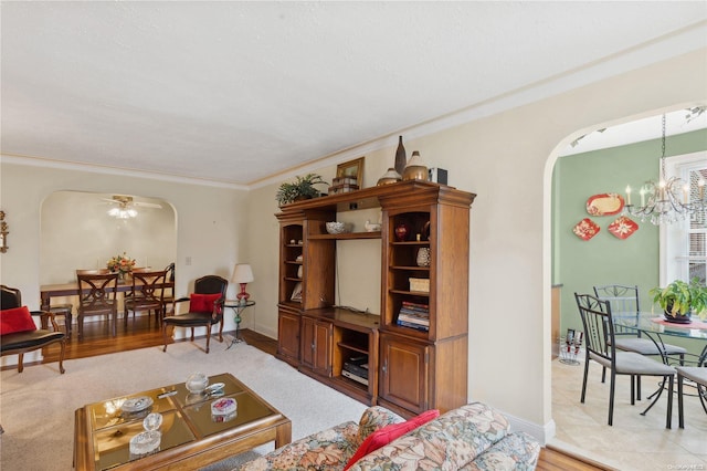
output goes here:
[{"label": "dark metal chair with slatted back and pale seat, nearest the archway", "polygon": [[[635,378],[640,376],[658,376],[668,383],[667,415],[665,428],[671,428],[673,418],[673,383],[675,368],[661,362],[655,362],[635,352],[616,349],[614,324],[611,317],[611,305],[591,294],[574,293],[577,306],[584,327],[584,378],[580,401],[584,404],[587,396],[587,378],[591,360],[597,362],[610,371],[609,384],[609,425],[613,425],[614,393],[618,375],[631,376],[631,405],[635,404]],[[661,393],[663,389],[661,388]],[[658,400],[661,394],[655,395],[646,411]],[[644,411],[645,414],[645,411]]]}]

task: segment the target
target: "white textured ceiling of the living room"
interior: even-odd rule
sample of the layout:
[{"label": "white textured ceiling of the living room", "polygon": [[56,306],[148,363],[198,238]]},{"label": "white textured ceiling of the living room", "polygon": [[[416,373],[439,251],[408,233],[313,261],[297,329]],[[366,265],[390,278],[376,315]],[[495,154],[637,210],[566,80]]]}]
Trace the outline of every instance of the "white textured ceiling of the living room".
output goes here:
[{"label": "white textured ceiling of the living room", "polygon": [[[673,40],[669,56],[707,43],[675,41],[704,32],[704,1],[3,1],[0,13],[3,155],[243,185],[570,73],[579,86],[598,63],[623,72],[610,59],[646,44]],[[662,59],[641,57],[623,66]]]}]

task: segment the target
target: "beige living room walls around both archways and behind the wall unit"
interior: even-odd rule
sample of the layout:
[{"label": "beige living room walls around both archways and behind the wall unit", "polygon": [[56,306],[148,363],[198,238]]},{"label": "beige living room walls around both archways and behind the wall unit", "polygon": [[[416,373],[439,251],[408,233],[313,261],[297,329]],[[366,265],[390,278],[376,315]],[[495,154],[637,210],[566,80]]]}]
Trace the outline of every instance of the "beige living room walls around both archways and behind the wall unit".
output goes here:
[{"label": "beige living room walls around both archways and behind the wall unit", "polygon": [[[450,185],[478,195],[472,208],[469,245],[469,400],[500,408],[516,426],[539,438],[552,435],[549,316],[555,153],[599,127],[707,103],[706,54],[703,49],[405,140],[408,155],[420,150],[430,166],[449,170]],[[389,147],[351,156],[366,155],[366,186],[374,185],[393,164],[397,139],[386,143]],[[317,169],[328,180],[335,170],[329,164]],[[246,313],[244,325],[276,335],[278,231],[273,214],[278,184],[246,193],[4,163],[0,171],[1,205],[11,231],[0,275],[3,283],[22,289],[28,304],[39,304],[43,198],[59,189],[125,192],[162,198],[175,206],[178,293],[187,293],[188,284],[200,274],[230,276],[235,261],[250,262],[255,281],[249,292],[257,305]],[[184,265],[187,257],[192,258],[191,266]]]}]

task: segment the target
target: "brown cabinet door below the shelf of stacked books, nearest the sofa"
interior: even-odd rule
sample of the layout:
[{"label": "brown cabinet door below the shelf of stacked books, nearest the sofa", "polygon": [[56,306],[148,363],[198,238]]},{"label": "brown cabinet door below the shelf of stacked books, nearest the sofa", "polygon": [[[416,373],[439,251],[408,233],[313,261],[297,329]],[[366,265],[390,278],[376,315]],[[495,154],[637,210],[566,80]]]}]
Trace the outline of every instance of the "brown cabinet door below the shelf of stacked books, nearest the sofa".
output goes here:
[{"label": "brown cabinet door below the shelf of stacked books, nearest the sofa", "polygon": [[412,412],[428,409],[430,345],[381,335],[379,396]]}]

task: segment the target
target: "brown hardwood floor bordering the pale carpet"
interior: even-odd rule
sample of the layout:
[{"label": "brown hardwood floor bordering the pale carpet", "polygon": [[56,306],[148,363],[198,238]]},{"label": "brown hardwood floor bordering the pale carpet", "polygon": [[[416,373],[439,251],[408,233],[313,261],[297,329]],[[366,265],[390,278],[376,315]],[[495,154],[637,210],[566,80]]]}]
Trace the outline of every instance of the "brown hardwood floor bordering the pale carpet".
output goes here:
[{"label": "brown hardwood floor bordering the pale carpet", "polygon": [[[231,335],[233,335],[233,333],[228,333],[224,342],[228,341]],[[261,350],[271,355],[274,355],[277,349],[277,343],[275,339],[261,335],[256,332],[242,329],[241,337],[249,345],[260,348]],[[199,338],[196,342],[198,342],[200,346],[203,346],[204,339]],[[218,344],[218,342],[215,342],[215,337],[211,339],[211,345],[213,346],[214,343]],[[86,325],[84,326],[84,338],[80,342],[76,333],[74,332],[72,338],[66,343],[66,359],[85,358],[89,356],[138,349],[156,345],[162,345],[162,333],[156,325],[154,317],[148,318],[147,316],[143,316],[137,317],[135,321],[129,320],[127,327],[124,326],[123,323],[120,323],[117,328],[116,337],[110,337],[107,335],[107,327],[103,322],[86,323]],[[59,347],[52,345],[44,349],[43,355],[43,363],[57,362]],[[4,367],[3,369],[9,368],[14,367]],[[66,375],[71,375],[71,369],[66,370]],[[605,470],[608,468],[581,461],[551,448],[544,448],[540,451],[540,459],[538,460],[537,469],[541,471],[583,471]]]}]

